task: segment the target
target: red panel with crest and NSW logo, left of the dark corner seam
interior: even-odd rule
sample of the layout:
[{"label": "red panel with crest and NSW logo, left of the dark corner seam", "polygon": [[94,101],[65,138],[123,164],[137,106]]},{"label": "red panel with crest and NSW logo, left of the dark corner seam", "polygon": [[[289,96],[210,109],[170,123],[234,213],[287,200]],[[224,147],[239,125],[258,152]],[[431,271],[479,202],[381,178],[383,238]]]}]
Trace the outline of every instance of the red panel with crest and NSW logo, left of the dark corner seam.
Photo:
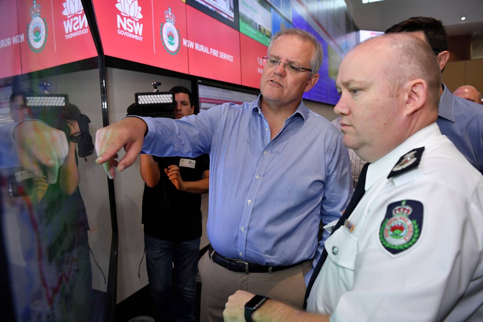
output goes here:
[{"label": "red panel with crest and NSW logo, left of the dark corner seam", "polygon": [[22,73],[97,56],[80,0],[18,0],[17,7]]}]

